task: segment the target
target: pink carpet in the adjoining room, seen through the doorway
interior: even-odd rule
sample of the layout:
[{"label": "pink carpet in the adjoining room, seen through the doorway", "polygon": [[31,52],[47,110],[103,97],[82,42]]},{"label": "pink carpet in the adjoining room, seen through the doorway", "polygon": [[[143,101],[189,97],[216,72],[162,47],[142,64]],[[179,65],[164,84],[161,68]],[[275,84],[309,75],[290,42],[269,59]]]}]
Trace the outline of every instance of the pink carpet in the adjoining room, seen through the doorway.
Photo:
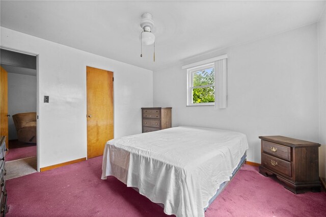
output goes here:
[{"label": "pink carpet in the adjoining room, seen through the doorway", "polygon": [[36,156],[36,144],[21,143],[17,140],[9,140],[9,152],[5,157],[6,161],[33,156]]}]

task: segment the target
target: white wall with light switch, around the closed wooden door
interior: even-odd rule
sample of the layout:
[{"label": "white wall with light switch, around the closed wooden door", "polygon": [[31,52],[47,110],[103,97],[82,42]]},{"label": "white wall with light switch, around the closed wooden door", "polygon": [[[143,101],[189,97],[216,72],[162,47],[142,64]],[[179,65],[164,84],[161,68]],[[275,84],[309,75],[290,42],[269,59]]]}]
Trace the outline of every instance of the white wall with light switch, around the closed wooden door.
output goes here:
[{"label": "white wall with light switch, around the closed wooden door", "polygon": [[86,66],[114,72],[115,138],[141,133],[141,107],[153,105],[152,71],[6,28],[1,45],[39,55],[40,168],[87,156]]}]

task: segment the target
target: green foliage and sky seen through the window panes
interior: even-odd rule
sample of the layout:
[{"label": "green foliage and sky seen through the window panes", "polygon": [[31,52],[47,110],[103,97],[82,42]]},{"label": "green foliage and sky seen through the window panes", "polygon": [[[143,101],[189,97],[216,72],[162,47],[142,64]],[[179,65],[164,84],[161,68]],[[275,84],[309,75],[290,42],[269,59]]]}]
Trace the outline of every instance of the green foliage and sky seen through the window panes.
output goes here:
[{"label": "green foliage and sky seen through the window panes", "polygon": [[214,85],[214,68],[208,68],[203,71],[195,72],[193,74],[193,82],[193,103],[207,103],[215,101],[214,86],[200,87],[205,85]]}]

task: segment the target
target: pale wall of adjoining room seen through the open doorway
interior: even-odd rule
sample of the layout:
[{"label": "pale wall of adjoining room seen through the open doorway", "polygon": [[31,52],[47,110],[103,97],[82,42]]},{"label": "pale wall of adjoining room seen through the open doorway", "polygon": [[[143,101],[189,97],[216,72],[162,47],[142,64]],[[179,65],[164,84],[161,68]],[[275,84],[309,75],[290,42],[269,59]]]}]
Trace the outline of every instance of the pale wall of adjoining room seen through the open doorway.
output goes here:
[{"label": "pale wall of adjoining room seen through the open doorway", "polygon": [[9,140],[17,139],[12,116],[17,113],[36,112],[36,76],[8,73]]}]

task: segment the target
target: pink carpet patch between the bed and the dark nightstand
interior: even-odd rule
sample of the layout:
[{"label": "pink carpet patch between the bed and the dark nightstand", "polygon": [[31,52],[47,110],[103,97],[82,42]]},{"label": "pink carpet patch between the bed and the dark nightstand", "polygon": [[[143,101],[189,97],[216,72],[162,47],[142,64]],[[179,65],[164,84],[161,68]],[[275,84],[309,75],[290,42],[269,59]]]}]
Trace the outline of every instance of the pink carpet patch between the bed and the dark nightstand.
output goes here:
[{"label": "pink carpet patch between the bed and the dark nightstand", "polygon": [[274,176],[244,165],[205,216],[326,216],[326,193],[293,194]]}]

